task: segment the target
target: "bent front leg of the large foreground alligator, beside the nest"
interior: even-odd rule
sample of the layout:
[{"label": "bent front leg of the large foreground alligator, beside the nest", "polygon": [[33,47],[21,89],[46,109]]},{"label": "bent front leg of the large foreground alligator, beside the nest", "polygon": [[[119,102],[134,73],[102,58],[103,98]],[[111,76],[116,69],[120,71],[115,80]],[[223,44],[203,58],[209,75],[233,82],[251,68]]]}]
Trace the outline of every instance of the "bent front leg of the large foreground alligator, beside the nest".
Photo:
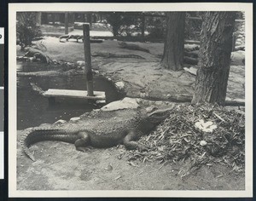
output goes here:
[{"label": "bent front leg of the large foreground alligator, beside the nest", "polygon": [[140,145],[137,140],[142,136],[143,134],[136,133],[134,130],[129,131],[129,133],[124,138],[124,145],[126,149],[138,149],[140,151],[147,151],[148,148],[146,146]]}]

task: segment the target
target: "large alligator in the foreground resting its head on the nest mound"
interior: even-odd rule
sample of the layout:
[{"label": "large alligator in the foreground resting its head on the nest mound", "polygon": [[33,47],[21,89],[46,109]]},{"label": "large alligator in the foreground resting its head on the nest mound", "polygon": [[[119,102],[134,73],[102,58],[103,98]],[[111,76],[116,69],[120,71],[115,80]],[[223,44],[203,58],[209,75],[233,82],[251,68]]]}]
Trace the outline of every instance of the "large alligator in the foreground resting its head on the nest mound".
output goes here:
[{"label": "large alligator in the foreground resting its head on the nest mound", "polygon": [[[154,112],[137,112],[137,115],[125,121],[125,123],[109,123],[96,127],[86,127],[83,129],[26,129],[26,135],[20,140],[20,145],[28,158],[32,161],[36,159],[29,150],[29,146],[39,141],[64,141],[72,143],[76,149],[86,152],[87,146],[98,148],[112,147],[124,144],[126,149],[138,149],[146,151],[147,146],[140,145],[137,140],[141,136],[147,135],[157,125],[168,118],[173,106],[166,109],[159,109]],[[100,114],[102,117],[102,114]],[[103,114],[104,115],[104,114]],[[108,115],[108,119],[111,117]],[[113,126],[110,126],[113,125]],[[101,127],[102,126],[102,127]],[[111,127],[111,128],[110,128]],[[69,130],[70,129],[70,130]]]}]

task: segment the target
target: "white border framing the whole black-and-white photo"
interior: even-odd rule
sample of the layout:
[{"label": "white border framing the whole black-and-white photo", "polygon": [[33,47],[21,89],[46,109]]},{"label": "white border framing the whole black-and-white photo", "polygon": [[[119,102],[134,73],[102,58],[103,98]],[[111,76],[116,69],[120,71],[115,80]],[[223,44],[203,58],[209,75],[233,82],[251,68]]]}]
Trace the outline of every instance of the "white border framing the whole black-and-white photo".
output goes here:
[{"label": "white border framing the whole black-and-white photo", "polygon": [[[136,5],[135,5],[136,4]],[[16,12],[243,11],[246,28],[246,166],[244,191],[18,191],[16,185]],[[9,197],[253,197],[253,3],[9,3]]]}]

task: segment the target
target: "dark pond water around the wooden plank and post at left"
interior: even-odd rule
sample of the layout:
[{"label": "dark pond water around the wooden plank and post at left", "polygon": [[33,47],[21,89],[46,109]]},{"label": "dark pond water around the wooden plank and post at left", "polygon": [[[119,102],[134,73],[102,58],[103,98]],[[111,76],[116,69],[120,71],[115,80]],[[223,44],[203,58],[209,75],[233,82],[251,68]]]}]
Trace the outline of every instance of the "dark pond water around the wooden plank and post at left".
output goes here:
[{"label": "dark pond water around the wooden plank and post at left", "polygon": [[[53,70],[37,63],[24,63],[17,66],[18,72],[35,72]],[[84,112],[99,108],[99,105],[88,103],[87,100],[65,98],[56,99],[54,105],[38,92],[32,89],[30,83],[36,83],[43,90],[47,89],[76,89],[86,90],[86,81],[82,75],[58,77],[18,77],[17,78],[17,129],[26,129],[38,126],[41,123],[55,123],[58,119],[69,120],[78,117]],[[94,90],[105,91],[107,103],[119,100],[119,94],[109,82],[102,77],[94,77]],[[102,106],[102,105],[101,105]]]}]

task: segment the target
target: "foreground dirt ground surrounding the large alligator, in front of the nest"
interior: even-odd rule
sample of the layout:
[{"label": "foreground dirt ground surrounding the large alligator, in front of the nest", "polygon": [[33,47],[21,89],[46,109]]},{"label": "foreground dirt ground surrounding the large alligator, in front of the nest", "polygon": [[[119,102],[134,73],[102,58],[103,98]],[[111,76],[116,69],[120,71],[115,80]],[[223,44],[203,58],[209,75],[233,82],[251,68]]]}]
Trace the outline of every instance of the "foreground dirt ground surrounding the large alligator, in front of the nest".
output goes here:
[{"label": "foreground dirt ground surrounding the large alligator, in front of the nest", "polygon": [[[148,103],[137,100],[141,106]],[[172,104],[166,105],[167,107]],[[157,106],[150,102],[148,106]],[[50,126],[78,129],[102,126],[109,128],[134,116],[137,109],[103,112],[98,116],[85,113],[77,122]],[[44,125],[48,127],[48,125]],[[24,131],[19,132],[20,136]],[[142,163],[129,160],[124,146],[91,148],[78,152],[71,144],[45,141],[31,147],[36,162],[23,155],[18,143],[18,190],[242,190],[244,173],[232,172],[219,164],[203,166],[182,177],[185,163],[157,161]]]}]

